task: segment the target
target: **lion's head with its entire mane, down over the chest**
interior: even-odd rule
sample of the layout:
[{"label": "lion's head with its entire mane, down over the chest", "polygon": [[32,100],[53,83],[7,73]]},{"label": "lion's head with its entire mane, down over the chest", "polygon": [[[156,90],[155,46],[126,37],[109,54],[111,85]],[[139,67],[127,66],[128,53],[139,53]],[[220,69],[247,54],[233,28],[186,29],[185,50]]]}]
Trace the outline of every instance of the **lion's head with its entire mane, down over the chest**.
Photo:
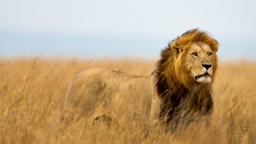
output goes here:
[{"label": "lion's head with its entire mane, down over the chest", "polygon": [[161,113],[168,116],[167,122],[178,114],[177,108],[184,116],[192,111],[212,112],[217,50],[218,42],[198,29],[185,32],[162,49],[155,74],[156,90],[163,98]]}]

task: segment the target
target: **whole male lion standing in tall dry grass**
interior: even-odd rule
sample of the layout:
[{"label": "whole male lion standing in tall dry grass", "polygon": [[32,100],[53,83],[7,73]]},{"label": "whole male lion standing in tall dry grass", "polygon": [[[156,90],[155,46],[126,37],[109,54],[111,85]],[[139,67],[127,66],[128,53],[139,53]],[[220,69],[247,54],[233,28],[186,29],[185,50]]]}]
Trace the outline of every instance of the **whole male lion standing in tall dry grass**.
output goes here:
[{"label": "whole male lion standing in tall dry grass", "polygon": [[118,123],[132,119],[149,124],[210,116],[217,50],[218,42],[207,32],[192,29],[168,43],[150,76],[113,68],[81,72],[70,84],[66,115],[90,122],[105,116]]}]

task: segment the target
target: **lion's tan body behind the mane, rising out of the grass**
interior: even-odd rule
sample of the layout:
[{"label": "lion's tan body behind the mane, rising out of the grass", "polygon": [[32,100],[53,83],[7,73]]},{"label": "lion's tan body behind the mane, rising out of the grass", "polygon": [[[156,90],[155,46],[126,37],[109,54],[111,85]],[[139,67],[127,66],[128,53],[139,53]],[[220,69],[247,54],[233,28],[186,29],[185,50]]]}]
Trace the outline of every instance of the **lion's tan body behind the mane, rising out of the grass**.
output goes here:
[{"label": "lion's tan body behind the mane, rising out of the grass", "polygon": [[73,80],[65,106],[76,108],[80,116],[90,116],[92,120],[105,115],[117,120],[132,117],[141,121],[150,113],[152,78],[113,68],[86,70]]}]

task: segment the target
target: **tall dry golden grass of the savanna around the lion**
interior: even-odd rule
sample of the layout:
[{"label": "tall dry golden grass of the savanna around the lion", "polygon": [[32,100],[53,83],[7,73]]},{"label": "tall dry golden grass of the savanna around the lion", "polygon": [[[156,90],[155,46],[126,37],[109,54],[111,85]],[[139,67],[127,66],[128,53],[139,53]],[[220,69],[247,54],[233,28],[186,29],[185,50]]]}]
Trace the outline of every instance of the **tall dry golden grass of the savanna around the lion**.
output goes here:
[{"label": "tall dry golden grass of the savanna around the lion", "polygon": [[174,133],[164,126],[146,136],[144,124],[60,121],[68,86],[81,71],[118,68],[150,75],[156,60],[60,60],[58,58],[0,60],[0,143],[256,143],[256,62],[220,62],[214,82],[211,125],[191,125]]}]

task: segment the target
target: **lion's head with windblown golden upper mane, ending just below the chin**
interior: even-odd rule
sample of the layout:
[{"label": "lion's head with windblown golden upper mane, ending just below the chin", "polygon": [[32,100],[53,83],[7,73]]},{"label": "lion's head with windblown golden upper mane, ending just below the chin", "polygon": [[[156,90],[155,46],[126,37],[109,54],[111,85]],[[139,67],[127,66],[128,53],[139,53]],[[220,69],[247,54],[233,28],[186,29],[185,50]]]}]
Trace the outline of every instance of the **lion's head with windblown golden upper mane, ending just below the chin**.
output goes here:
[{"label": "lion's head with windblown golden upper mane, ending just below the chin", "polygon": [[[174,83],[187,89],[196,84],[211,84],[217,68],[217,50],[218,42],[198,29],[172,40],[161,51],[158,61],[158,90],[164,92]],[[168,86],[159,86],[163,83]]]}]

